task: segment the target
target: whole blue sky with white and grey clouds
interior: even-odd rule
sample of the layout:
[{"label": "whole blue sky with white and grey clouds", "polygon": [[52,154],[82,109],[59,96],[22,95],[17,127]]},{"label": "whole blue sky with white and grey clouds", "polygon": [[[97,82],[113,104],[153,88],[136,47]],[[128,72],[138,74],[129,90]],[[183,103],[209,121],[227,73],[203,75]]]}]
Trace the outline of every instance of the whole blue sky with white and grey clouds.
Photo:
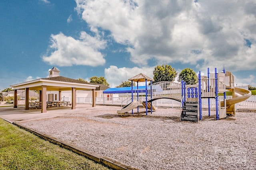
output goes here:
[{"label": "whole blue sky with white and grey clouds", "polygon": [[155,66],[256,86],[256,0],[2,0],[0,90],[60,76],[110,87]]}]

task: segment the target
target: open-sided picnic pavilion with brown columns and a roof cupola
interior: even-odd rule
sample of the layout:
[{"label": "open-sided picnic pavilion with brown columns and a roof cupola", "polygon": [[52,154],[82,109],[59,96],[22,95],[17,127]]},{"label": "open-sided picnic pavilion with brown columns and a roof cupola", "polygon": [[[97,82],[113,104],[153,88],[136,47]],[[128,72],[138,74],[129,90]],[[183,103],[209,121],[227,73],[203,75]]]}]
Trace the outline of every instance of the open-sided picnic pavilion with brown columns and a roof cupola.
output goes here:
[{"label": "open-sided picnic pavilion with brown columns and a roof cupola", "polygon": [[53,67],[49,71],[50,75],[48,78],[39,78],[36,80],[23,82],[20,84],[14,84],[10,87],[14,88],[14,108],[17,108],[17,90],[25,90],[25,110],[29,109],[29,90],[39,91],[39,101],[42,102],[41,113],[46,112],[47,101],[46,91],[58,91],[59,99],[61,98],[61,91],[71,90],[72,91],[72,105],[71,109],[76,109],[76,90],[92,90],[92,107],[95,107],[95,90],[99,85],[83,82],[80,80],[59,76],[59,70]]}]

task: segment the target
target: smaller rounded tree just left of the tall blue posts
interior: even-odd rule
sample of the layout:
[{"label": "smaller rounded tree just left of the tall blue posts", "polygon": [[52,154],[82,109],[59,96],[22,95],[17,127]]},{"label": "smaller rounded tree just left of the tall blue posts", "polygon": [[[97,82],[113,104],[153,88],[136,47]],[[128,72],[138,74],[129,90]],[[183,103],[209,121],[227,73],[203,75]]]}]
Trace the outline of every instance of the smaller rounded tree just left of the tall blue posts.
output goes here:
[{"label": "smaller rounded tree just left of the tall blue posts", "polygon": [[198,83],[198,76],[191,68],[184,68],[178,77],[178,82],[183,80],[187,85],[194,85]]}]

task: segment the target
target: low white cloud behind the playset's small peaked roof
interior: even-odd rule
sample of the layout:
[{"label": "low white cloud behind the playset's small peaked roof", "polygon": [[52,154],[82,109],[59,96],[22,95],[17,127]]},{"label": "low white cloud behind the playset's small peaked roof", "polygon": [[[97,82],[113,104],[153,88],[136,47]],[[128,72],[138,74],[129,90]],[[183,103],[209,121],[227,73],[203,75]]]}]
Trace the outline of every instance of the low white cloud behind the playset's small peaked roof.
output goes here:
[{"label": "low white cloud behind the playset's small peaked roof", "polygon": [[110,66],[109,68],[105,68],[105,78],[107,82],[110,84],[110,87],[116,87],[120,85],[122,81],[128,81],[129,78],[136,76],[140,73],[143,73],[146,76],[153,78],[154,68],[155,67],[118,68],[117,66]]}]

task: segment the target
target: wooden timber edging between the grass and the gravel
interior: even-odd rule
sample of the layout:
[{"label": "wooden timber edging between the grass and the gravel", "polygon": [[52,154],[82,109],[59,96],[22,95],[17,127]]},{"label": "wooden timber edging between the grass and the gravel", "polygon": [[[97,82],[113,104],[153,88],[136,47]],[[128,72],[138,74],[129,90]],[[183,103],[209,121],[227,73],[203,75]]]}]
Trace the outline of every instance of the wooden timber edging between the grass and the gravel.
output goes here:
[{"label": "wooden timber edging between the grass and the gravel", "polygon": [[56,139],[55,137],[51,137],[51,136],[48,136],[46,134],[42,134],[42,133],[39,133],[37,131],[34,131],[24,125],[20,125],[19,123],[17,122],[13,122],[12,124],[16,125],[17,127],[20,127],[21,129],[24,129],[30,133],[33,133],[34,135],[44,139],[44,140],[47,140],[51,143],[54,143],[55,145],[59,145],[65,149],[68,149],[68,150],[72,150],[72,152],[75,152],[81,156],[85,156],[91,160],[94,160],[95,162],[98,162],[98,163],[101,163],[101,164],[104,164],[112,169],[115,169],[115,170],[139,170],[138,168],[135,168],[133,166],[130,166],[128,164],[125,164],[123,162],[120,162],[118,160],[115,160],[113,158],[110,158],[108,156],[102,156],[100,154],[97,154],[97,153],[94,153],[94,152],[90,152],[89,150],[86,150],[86,149],[83,149],[83,148],[80,148],[80,147],[77,147],[75,145],[72,145],[71,143],[67,143],[65,141],[62,141],[60,139]]}]

